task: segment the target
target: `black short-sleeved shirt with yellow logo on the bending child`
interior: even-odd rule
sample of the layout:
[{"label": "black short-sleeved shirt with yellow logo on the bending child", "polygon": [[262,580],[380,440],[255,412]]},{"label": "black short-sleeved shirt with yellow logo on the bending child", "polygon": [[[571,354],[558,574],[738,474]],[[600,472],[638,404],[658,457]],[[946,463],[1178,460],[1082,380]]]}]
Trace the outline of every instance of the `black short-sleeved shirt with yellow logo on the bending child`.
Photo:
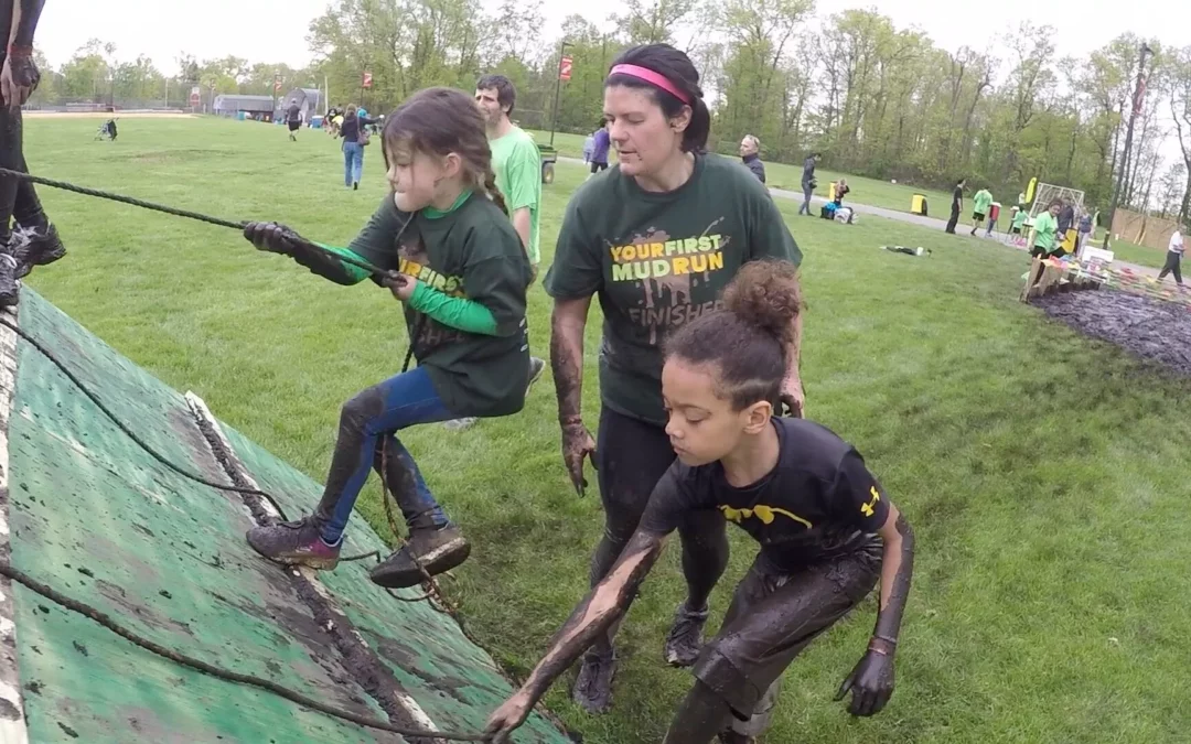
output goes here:
[{"label": "black short-sleeved shirt with yellow logo on the bending child", "polygon": [[744,488],[718,462],[675,461],[657,482],[641,529],[669,534],[694,509],[718,509],[761,544],[779,570],[854,552],[875,542],[888,499],[850,444],[805,419],[774,418],[780,454],[767,476]]}]

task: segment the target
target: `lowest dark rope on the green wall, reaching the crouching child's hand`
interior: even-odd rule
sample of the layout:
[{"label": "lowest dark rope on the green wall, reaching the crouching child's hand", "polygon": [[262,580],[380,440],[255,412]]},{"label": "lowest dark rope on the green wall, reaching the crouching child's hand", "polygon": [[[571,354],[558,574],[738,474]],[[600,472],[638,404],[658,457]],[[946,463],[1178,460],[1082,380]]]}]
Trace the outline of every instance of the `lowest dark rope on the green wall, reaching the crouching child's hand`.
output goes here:
[{"label": "lowest dark rope on the green wall, reaching the crouching child's hand", "polygon": [[250,674],[239,674],[238,671],[229,671],[226,669],[222,669],[213,664],[208,664],[202,659],[194,658],[193,656],[187,656],[173,649],[168,649],[158,643],[149,640],[144,636],[139,636],[136,632],[130,631],[129,629],[119,625],[110,615],[100,612],[99,609],[95,609],[91,605],[86,605],[77,600],[70,599],[69,596],[62,594],[61,592],[52,589],[45,586],[44,583],[27,576],[20,569],[17,569],[8,563],[0,563],[0,574],[7,576],[8,579],[15,581],[17,583],[26,587],[30,590],[40,594],[42,596],[55,602],[56,605],[61,605],[67,609],[76,612],[87,618],[91,618],[99,625],[102,625],[104,627],[112,631],[117,636],[124,638],[129,643],[132,643],[133,645],[141,646],[146,651],[156,654],[162,658],[169,659],[183,667],[197,669],[198,671],[208,674],[220,680],[226,680],[229,682],[237,682],[239,684],[248,684],[250,687],[256,687],[266,692],[270,692],[274,695],[289,700],[291,702],[297,702],[303,707],[310,708],[312,711],[318,711],[319,713],[325,713],[326,715],[331,715],[332,718],[338,718],[348,723],[356,724],[357,726],[364,726],[366,729],[391,731],[393,733],[400,734],[406,738],[448,739],[451,742],[486,742],[490,738],[487,734],[480,734],[480,733],[461,733],[456,731],[426,731],[419,729],[403,729],[400,726],[394,726],[389,723],[382,721],[376,718],[367,718],[364,715],[356,715],[355,713],[350,713],[348,711],[341,711],[338,708],[326,705],[325,702],[319,702],[313,698],[307,698],[301,693],[297,693],[289,688],[282,687],[270,680],[262,680],[261,677],[256,677]]}]

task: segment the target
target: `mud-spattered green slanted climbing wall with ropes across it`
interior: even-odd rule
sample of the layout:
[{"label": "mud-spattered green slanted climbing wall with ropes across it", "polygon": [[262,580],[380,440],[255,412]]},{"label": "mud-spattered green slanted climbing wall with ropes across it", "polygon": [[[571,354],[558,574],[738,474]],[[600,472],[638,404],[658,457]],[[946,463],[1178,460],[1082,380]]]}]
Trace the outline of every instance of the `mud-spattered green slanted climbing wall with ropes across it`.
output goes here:
[{"label": "mud-spattered green slanted climbing wall with ropes across it", "polygon": [[[27,288],[19,325],[151,446],[192,473],[229,482],[183,395]],[[318,483],[220,426],[248,475],[288,517],[312,508]],[[168,648],[386,718],[292,576],[244,542],[254,523],[241,496],[155,461],[19,339],[7,440],[13,565]],[[372,550],[387,548],[357,520],[344,555]],[[454,619],[426,602],[394,600],[368,581],[368,567],[344,563],[317,581],[393,673],[406,705],[439,730],[481,730],[510,683]],[[170,663],[24,587],[11,593],[30,742],[403,740]],[[517,740],[569,739],[535,713]]]}]

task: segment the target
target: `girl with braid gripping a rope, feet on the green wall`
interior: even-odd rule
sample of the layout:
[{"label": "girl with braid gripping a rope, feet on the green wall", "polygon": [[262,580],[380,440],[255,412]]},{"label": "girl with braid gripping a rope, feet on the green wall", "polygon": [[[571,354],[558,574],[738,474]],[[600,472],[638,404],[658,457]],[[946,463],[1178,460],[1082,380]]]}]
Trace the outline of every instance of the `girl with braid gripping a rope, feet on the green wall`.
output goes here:
[{"label": "girl with braid gripping a rope, feet on the green wall", "polygon": [[529,261],[494,187],[484,121],[460,90],[430,88],[389,117],[384,131],[393,193],[347,249],[314,250],[276,224],[250,224],[258,249],[292,256],[341,285],[367,271],[333,257],[363,258],[405,305],[418,365],[367,388],[343,406],[323,499],[294,523],[254,527],[248,542],[289,564],[335,568],[343,530],[375,468],[410,527],[409,543],[372,570],[384,587],[411,587],[467,559],[469,546],[431,495],[394,436],[417,424],[520,411],[529,380],[525,290]]}]

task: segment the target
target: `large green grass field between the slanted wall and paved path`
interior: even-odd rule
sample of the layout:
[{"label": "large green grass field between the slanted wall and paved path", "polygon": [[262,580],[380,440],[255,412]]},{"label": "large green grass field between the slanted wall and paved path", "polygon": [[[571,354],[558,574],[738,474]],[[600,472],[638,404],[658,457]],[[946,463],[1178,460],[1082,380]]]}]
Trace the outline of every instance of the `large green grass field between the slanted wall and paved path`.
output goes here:
[{"label": "large green grass field between the slanted wall and paved path", "polygon": [[[126,118],[113,144],[92,142],[94,129],[27,123],[30,167],[231,219],[285,221],[329,243],[348,242],[385,195],[379,146],[354,193],[342,186],[338,149],[318,132],[292,144],[275,126]],[[582,177],[563,164],[545,189],[547,261]],[[48,189],[43,198],[70,255],[29,283],[322,481],[341,404],[400,365],[392,296],[333,286],[230,230]],[[1018,304],[1022,252],[878,218],[852,227],[798,219],[797,204],[779,206],[806,256],[809,414],[866,455],[913,524],[918,556],[888,708],[855,720],[830,700],[863,651],[869,599],[791,668],[767,740],[1187,740],[1191,383]],[[934,255],[878,249],[890,243]],[[540,356],[549,307],[535,287]],[[593,317],[591,426],[598,329]],[[580,500],[568,484],[555,421],[545,381],[518,415],[403,434],[475,544],[447,586],[515,674],[586,590],[601,530],[598,499]],[[360,508],[385,533],[376,496],[370,484]],[[743,533],[732,545],[711,629],[755,551]],[[681,594],[672,549],[621,633],[611,714],[572,706],[570,676],[548,698],[588,744],[661,739],[691,680],[661,662]]]}]

